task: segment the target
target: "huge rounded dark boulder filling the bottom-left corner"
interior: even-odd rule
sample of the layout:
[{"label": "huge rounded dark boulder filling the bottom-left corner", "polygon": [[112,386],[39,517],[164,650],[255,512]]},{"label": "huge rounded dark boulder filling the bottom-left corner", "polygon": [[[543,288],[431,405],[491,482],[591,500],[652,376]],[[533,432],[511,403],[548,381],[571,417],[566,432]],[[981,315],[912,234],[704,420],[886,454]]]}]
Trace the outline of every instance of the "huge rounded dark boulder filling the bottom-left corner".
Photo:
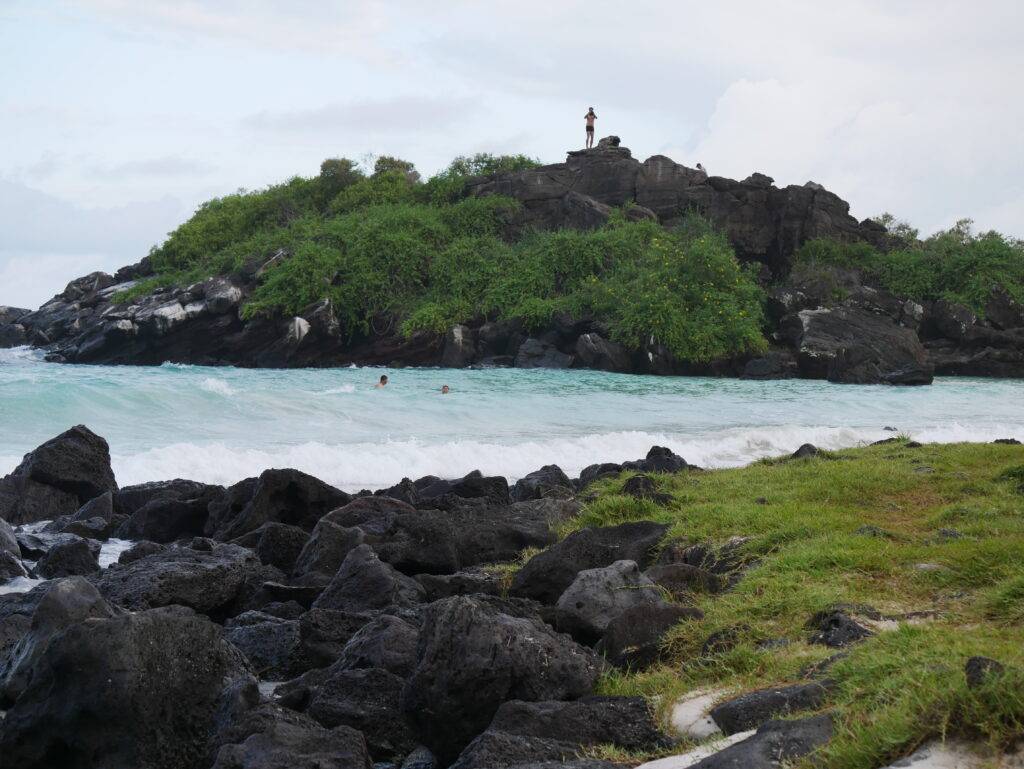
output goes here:
[{"label": "huge rounded dark boulder filling the bottom-left corner", "polygon": [[254,688],[220,629],[186,609],[93,617],[50,640],[7,711],[0,755],[25,769],[200,769],[218,714]]}]

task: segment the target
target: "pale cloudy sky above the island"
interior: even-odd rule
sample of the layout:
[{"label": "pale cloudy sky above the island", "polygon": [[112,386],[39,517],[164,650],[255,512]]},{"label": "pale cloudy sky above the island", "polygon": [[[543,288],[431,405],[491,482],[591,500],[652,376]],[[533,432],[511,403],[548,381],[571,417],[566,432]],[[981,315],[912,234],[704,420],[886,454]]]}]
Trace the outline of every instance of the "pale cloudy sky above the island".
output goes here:
[{"label": "pale cloudy sky above the island", "polygon": [[564,160],[598,135],[1024,237],[1017,0],[0,0],[0,305],[325,158]]}]

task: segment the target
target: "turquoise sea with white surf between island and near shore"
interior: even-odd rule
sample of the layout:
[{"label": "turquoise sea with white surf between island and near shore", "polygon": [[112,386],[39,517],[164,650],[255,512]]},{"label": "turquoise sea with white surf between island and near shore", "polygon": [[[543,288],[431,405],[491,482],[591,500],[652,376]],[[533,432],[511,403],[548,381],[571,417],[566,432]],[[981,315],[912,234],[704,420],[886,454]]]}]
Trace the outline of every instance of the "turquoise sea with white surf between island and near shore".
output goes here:
[{"label": "turquoise sea with white surf between island and near shore", "polygon": [[[374,383],[381,374],[387,388]],[[439,393],[449,384],[449,395]],[[1024,381],[930,387],[638,377],[588,371],[58,366],[0,350],[0,473],[75,424],[111,444],[121,484],[231,483],[295,467],[346,489],[472,469],[570,475],[667,445],[705,467],[898,428],[923,441],[1024,439]]]}]

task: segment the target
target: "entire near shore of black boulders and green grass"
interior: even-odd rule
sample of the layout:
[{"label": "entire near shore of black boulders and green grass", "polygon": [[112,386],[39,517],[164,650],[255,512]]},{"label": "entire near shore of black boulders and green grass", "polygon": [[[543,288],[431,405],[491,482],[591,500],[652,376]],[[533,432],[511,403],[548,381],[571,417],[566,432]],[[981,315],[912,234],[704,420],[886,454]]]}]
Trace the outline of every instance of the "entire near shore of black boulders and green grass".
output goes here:
[{"label": "entire near shore of black boulders and green grass", "polygon": [[1022,492],[1016,440],[900,436],[121,487],[78,426],[0,479],[0,762],[995,766],[1024,722]]}]

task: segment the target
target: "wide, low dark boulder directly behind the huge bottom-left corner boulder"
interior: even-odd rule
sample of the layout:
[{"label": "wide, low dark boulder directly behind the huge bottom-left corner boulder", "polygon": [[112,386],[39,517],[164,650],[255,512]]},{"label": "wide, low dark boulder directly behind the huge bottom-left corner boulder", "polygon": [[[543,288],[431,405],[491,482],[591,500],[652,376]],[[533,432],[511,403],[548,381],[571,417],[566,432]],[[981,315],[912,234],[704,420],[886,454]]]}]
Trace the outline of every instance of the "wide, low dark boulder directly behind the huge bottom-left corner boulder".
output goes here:
[{"label": "wide, low dark boulder directly behind the huge bottom-left corner boulder", "polygon": [[103,569],[97,587],[112,603],[132,611],[180,604],[214,617],[233,607],[243,590],[260,581],[251,550],[218,545],[209,551],[170,547]]}]

